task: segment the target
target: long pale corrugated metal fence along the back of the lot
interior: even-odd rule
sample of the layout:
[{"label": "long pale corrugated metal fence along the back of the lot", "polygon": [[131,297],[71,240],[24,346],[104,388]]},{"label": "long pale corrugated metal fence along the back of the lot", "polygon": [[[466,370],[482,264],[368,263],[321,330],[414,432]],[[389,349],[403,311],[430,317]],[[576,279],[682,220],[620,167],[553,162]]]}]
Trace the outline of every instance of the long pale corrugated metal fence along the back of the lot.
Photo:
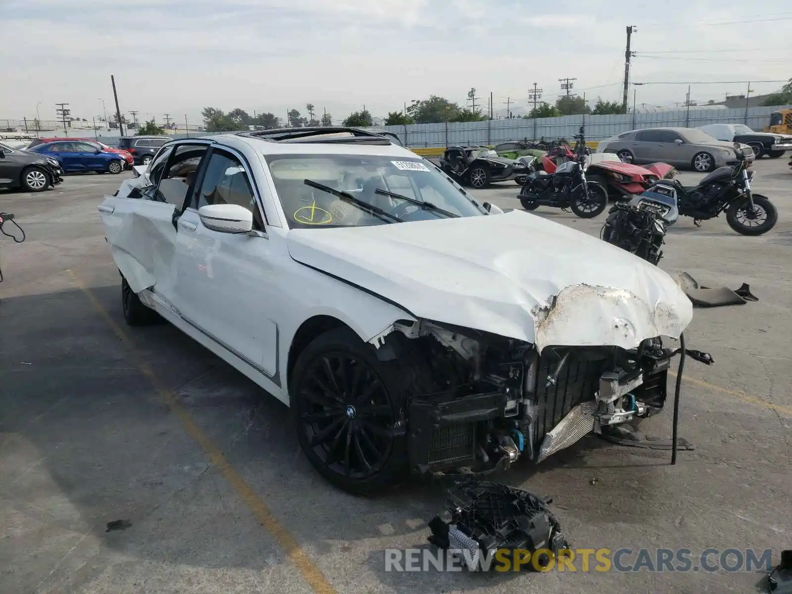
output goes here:
[{"label": "long pale corrugated metal fence along the back of the lot", "polygon": [[455,144],[497,144],[516,139],[547,139],[571,137],[585,125],[588,140],[602,140],[636,128],[683,127],[705,124],[746,124],[763,130],[770,123],[770,114],[786,107],[752,107],[745,109],[679,109],[668,112],[627,113],[613,116],[565,116],[524,120],[486,120],[445,124],[410,124],[383,126],[394,132],[406,147],[448,147]]}]

